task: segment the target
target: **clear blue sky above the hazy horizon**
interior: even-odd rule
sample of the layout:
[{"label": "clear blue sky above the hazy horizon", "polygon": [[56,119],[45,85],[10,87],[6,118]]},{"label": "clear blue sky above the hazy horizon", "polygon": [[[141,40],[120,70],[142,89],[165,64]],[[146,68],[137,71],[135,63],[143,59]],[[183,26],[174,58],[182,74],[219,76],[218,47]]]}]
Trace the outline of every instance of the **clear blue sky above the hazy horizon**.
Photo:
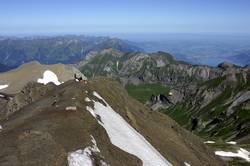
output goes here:
[{"label": "clear blue sky above the hazy horizon", "polygon": [[0,34],[250,33],[250,0],[1,0]]}]

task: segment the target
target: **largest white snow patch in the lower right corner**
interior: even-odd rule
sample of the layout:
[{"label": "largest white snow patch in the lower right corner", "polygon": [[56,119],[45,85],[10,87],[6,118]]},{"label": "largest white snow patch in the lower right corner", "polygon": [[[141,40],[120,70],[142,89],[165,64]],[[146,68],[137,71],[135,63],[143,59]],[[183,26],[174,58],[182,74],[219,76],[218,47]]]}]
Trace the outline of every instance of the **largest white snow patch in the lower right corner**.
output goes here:
[{"label": "largest white snow patch in the lower right corner", "polygon": [[237,153],[216,151],[215,154],[218,156],[222,156],[222,157],[239,157],[239,158],[243,158],[246,161],[250,162],[250,157],[249,157],[250,152],[248,152],[247,150],[245,150],[243,148],[240,148],[240,150],[238,150]]}]

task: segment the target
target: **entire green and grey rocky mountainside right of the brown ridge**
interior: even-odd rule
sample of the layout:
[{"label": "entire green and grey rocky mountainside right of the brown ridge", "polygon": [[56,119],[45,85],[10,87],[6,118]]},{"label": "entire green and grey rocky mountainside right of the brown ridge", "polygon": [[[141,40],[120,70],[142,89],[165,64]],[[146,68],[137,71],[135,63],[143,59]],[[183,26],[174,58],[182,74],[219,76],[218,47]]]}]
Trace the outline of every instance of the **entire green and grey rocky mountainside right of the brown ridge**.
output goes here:
[{"label": "entire green and grey rocky mountainside right of the brown ridge", "polygon": [[119,80],[131,96],[205,139],[237,141],[250,148],[249,66],[191,65],[164,52],[109,49],[89,54],[78,67],[90,78]]}]

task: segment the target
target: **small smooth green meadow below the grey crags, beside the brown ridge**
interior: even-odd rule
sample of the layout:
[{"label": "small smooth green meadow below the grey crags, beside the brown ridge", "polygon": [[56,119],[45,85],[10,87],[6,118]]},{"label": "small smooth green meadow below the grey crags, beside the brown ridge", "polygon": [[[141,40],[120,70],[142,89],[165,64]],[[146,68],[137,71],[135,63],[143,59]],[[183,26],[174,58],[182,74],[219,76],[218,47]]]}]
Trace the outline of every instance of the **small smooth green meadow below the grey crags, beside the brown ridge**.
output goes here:
[{"label": "small smooth green meadow below the grey crags, beside the brown ridge", "polygon": [[125,88],[130,96],[142,103],[146,103],[152,95],[167,95],[169,93],[169,88],[160,83],[146,83],[141,85],[129,84],[126,85]]}]

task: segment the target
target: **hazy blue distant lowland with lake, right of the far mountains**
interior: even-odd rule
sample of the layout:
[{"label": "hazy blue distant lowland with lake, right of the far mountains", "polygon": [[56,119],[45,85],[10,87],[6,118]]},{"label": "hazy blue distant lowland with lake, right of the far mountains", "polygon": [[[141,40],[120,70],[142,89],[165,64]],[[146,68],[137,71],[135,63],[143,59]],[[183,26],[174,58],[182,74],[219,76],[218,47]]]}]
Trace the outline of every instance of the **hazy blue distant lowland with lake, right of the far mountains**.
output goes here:
[{"label": "hazy blue distant lowland with lake, right of the far mountains", "polygon": [[137,46],[146,52],[169,52],[192,64],[217,66],[227,61],[244,66],[250,62],[250,38],[247,35],[163,34],[131,40],[137,41]]}]

